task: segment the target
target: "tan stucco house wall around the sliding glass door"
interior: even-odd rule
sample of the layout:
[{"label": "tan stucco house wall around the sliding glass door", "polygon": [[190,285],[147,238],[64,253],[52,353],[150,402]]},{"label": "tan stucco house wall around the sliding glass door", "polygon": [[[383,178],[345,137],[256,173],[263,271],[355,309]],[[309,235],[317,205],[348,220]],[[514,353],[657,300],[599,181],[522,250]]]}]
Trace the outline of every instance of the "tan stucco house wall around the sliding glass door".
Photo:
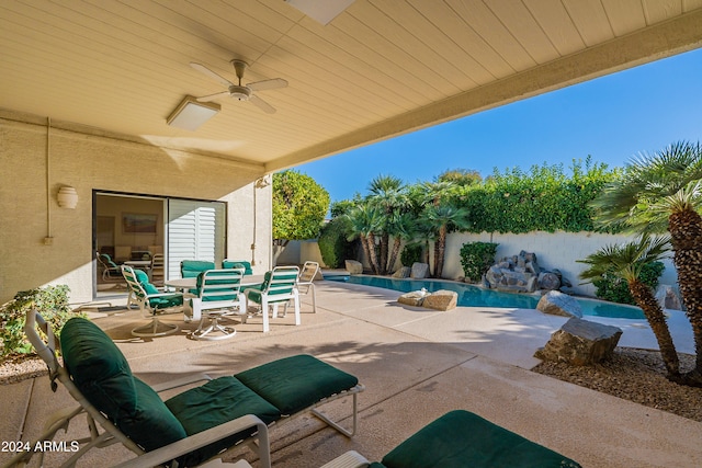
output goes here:
[{"label": "tan stucco house wall around the sliding glass door", "polygon": [[[47,284],[68,284],[72,303],[92,299],[94,190],[227,202],[226,256],[254,260],[256,273],[269,267],[271,187],[253,185],[262,167],[98,130],[49,135],[47,155],[46,125],[0,118],[0,303]],[[76,209],[58,206],[63,185],[77,190]]]}]

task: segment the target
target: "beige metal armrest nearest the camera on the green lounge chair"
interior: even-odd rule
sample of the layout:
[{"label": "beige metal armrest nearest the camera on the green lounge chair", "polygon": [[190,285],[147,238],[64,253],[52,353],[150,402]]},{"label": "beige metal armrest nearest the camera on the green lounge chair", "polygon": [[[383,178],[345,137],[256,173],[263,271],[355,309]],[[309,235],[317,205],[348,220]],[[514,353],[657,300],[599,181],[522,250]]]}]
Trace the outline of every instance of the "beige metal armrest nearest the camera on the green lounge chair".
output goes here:
[{"label": "beige metal armrest nearest the camera on the green lounge chair", "polygon": [[156,450],[147,452],[137,458],[131,458],[113,468],[151,468],[160,466],[182,455],[196,450],[197,448],[202,448],[205,445],[212,444],[215,441],[220,441],[229,435],[234,435],[253,426],[258,430],[257,437],[259,438],[259,457],[261,459],[261,466],[270,468],[271,448],[268,438],[268,426],[253,414],[246,414],[241,418],[237,418],[236,420],[219,424],[189,437],[181,438],[178,442],[173,442],[172,444],[166,445]]}]

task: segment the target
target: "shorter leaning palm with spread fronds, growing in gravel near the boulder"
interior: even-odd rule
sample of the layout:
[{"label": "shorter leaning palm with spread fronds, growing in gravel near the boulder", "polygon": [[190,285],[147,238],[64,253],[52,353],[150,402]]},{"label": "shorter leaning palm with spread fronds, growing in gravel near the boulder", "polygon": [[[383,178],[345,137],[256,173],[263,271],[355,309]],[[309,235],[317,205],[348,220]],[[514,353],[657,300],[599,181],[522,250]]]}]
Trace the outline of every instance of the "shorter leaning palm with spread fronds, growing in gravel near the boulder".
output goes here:
[{"label": "shorter leaning palm with spread fronds, growing in gravel near the boulder", "polygon": [[580,263],[590,265],[580,273],[580,277],[592,282],[611,274],[626,282],[632,297],[644,311],[650,329],[656,335],[660,355],[668,372],[667,378],[681,384],[678,353],[670,336],[666,317],[654,292],[641,281],[644,265],[659,261],[668,251],[669,241],[667,236],[658,238],[642,236],[636,242],[605,246],[587,259],[580,260]]}]

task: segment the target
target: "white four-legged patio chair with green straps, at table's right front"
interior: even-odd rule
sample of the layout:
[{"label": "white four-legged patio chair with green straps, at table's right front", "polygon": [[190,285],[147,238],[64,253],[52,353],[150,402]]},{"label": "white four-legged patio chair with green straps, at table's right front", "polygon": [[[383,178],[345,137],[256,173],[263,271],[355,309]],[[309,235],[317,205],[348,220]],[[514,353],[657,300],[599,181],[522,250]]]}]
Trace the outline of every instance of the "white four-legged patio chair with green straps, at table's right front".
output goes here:
[{"label": "white four-legged patio chair with green straps, at table's right front", "polygon": [[299,319],[299,293],[297,290],[297,277],[299,267],[276,266],[267,272],[260,287],[250,287],[244,290],[249,305],[258,305],[263,317],[263,333],[270,331],[269,308],[273,310],[273,318],[278,317],[278,306],[284,307],[283,315],[287,312],[288,303],[295,308],[295,324],[301,324]]}]

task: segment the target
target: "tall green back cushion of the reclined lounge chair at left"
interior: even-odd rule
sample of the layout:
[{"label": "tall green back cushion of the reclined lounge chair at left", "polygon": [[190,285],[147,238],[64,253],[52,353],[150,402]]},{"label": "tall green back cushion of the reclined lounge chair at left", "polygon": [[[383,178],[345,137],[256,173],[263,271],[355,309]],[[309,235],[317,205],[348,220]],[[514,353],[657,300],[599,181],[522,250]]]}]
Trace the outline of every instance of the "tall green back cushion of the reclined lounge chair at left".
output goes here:
[{"label": "tall green back cushion of the reclined lounge chair at left", "polygon": [[75,317],[60,334],[64,364],[88,401],[145,450],[186,436],[160,397],[132,375],[129,364],[98,326]]}]

